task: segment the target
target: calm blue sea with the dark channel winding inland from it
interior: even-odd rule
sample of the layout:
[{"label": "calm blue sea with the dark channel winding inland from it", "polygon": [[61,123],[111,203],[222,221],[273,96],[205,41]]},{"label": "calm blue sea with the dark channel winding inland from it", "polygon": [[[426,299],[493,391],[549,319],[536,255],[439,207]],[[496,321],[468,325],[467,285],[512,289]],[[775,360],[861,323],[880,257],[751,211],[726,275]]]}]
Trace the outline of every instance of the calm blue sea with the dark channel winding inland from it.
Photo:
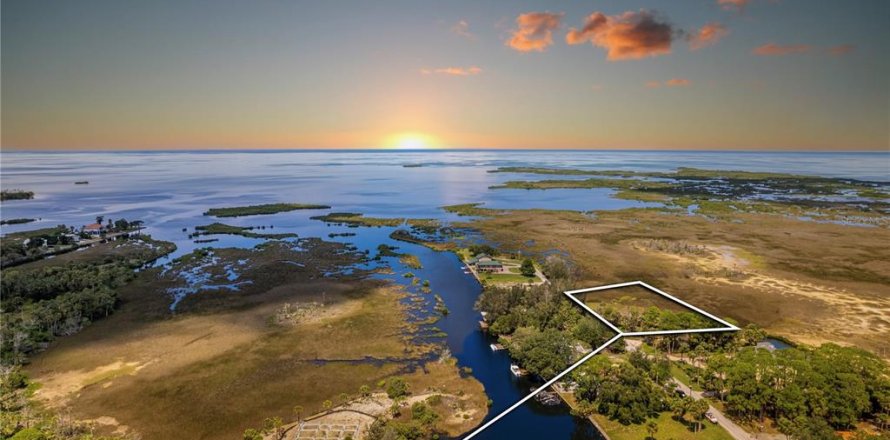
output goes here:
[{"label": "calm blue sea with the dark channel winding inland from it", "polygon": [[[422,167],[403,167],[423,164]],[[548,208],[613,210],[659,206],[614,199],[609,189],[595,190],[489,190],[506,180],[542,176],[489,173],[500,166],[571,167],[670,171],[681,166],[737,169],[890,180],[887,153],[714,153],[714,152],[575,152],[575,151],[423,151],[423,152],[128,152],[128,153],[24,153],[0,154],[0,183],[4,189],[36,193],[35,200],[2,205],[2,217],[39,218],[35,223],[3,226],[2,232],[36,229],[57,224],[82,225],[106,218],[142,219],[155,238],[176,243],[170,258],[196,247],[253,247],[263,240],[214,236],[218,242],[195,244],[182,229],[216,219],[202,213],[211,207],[258,203],[320,203],[334,211],[361,212],[379,217],[456,217],[439,207],[458,203],[484,203],[492,208]],[[74,185],[87,180],[88,185]],[[244,226],[274,226],[267,232],[296,232],[301,237],[354,232],[334,240],[369,250],[381,243],[399,246],[417,255],[423,269],[410,271],[430,280],[450,310],[436,323],[447,336],[444,342],[458,364],[472,369],[492,400],[489,417],[500,413],[529,392],[532,384],[509,373],[504,352],[492,352],[492,342],[479,331],[473,305],[481,287],[463,273],[450,253],[395,242],[394,228],[347,228],[310,220],[325,211],[295,211],[268,216],[222,219]],[[387,259],[395,273],[389,279],[405,284],[409,269]],[[169,261],[169,258],[165,261]],[[163,262],[162,262],[163,263]],[[431,297],[431,295],[428,295]],[[427,304],[428,309],[432,307]],[[429,310],[427,310],[429,311]],[[586,421],[569,415],[567,408],[545,408],[530,402],[479,438],[599,439]]]}]

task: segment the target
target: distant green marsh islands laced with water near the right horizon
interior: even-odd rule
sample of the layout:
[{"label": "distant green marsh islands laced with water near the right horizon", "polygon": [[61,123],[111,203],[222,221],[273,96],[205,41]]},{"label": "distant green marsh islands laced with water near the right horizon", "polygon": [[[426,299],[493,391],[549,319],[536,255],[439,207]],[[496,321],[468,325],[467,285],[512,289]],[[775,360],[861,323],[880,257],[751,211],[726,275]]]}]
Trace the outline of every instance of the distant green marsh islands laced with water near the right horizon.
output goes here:
[{"label": "distant green marsh islands laced with water near the right horizon", "polygon": [[[492,189],[608,188],[615,197],[664,202],[702,215],[775,213],[826,221],[886,225],[890,185],[886,182],[783,173],[678,168],[674,172],[504,167],[497,173],[592,176],[588,179],[513,180]],[[694,205],[694,206],[693,206]],[[458,207],[462,209],[472,208]]]}]

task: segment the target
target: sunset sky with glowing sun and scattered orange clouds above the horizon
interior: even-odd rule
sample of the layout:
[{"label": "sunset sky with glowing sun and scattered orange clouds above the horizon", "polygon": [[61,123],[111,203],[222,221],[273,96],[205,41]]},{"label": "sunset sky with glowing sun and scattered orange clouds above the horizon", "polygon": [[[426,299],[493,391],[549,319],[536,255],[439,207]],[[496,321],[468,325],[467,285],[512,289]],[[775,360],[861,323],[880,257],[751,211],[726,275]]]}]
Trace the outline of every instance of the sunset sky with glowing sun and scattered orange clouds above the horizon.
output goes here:
[{"label": "sunset sky with glowing sun and scattered orange clouds above the horizon", "polygon": [[4,149],[890,149],[890,2],[2,3]]}]

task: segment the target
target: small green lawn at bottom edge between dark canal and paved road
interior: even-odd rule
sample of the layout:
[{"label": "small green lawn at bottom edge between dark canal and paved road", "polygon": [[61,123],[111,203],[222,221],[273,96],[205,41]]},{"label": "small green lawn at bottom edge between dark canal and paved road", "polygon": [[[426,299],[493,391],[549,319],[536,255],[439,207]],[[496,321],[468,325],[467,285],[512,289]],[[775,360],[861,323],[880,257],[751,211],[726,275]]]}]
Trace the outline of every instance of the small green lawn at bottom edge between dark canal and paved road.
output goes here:
[{"label": "small green lawn at bottom edge between dark canal and paved road", "polygon": [[[594,414],[592,418],[612,440],[640,440],[649,436],[645,424],[622,425],[599,414]],[[697,433],[693,432],[694,427],[687,428],[674,420],[667,412],[661,413],[655,419],[655,423],[658,425],[658,431],[655,433],[656,439],[732,440],[732,436],[726,430],[708,421],[704,422],[702,430]]]}]

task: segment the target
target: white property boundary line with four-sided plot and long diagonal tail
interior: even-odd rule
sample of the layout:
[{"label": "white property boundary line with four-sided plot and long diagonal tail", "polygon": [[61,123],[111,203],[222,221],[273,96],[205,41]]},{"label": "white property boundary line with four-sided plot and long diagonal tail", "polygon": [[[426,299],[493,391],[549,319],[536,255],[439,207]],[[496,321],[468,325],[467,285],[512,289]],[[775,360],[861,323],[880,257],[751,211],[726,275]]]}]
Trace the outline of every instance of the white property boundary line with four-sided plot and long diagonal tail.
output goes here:
[{"label": "white property boundary line with four-sided plot and long diagonal tail", "polygon": [[[627,332],[627,333],[625,333],[625,332],[621,331],[621,329],[619,329],[617,326],[615,326],[614,324],[609,322],[609,320],[607,320],[606,318],[603,318],[599,313],[593,311],[593,309],[588,307],[587,304],[584,304],[583,301],[580,301],[580,300],[578,300],[578,298],[575,298],[575,295],[577,295],[579,293],[598,292],[601,290],[617,289],[617,288],[629,287],[629,286],[640,286],[646,290],[649,290],[650,292],[661,295],[661,296],[663,296],[677,304],[680,304],[683,307],[686,307],[690,310],[694,310],[698,313],[701,313],[704,316],[707,316],[710,319],[713,319],[714,321],[719,322],[720,324],[723,324],[724,327],[689,329],[689,330],[656,330],[656,331],[649,331],[649,332]],[[540,387],[538,387],[537,389],[535,389],[531,393],[529,393],[527,396],[523,397],[518,402],[511,405],[509,408],[505,409],[503,412],[496,415],[493,419],[489,420],[484,425],[476,428],[476,430],[474,430],[469,435],[464,437],[464,440],[470,440],[471,438],[475,437],[480,432],[484,431],[486,428],[495,424],[498,420],[500,420],[501,418],[503,418],[504,416],[509,414],[511,411],[518,408],[520,405],[527,402],[532,397],[535,397],[541,391],[546,390],[551,385],[555,384],[558,380],[562,379],[565,375],[571,373],[572,370],[580,367],[581,364],[583,364],[584,362],[587,362],[590,358],[596,356],[599,352],[605,350],[606,347],[612,345],[612,343],[614,343],[615,341],[617,341],[623,337],[681,335],[681,334],[689,334],[689,333],[710,333],[710,332],[734,332],[734,331],[739,330],[738,327],[726,322],[725,320],[720,319],[720,318],[718,318],[718,317],[716,317],[716,316],[714,316],[714,315],[712,315],[698,307],[695,307],[692,304],[689,304],[679,298],[673,297],[665,292],[662,292],[661,290],[656,289],[655,287],[652,287],[642,281],[630,281],[630,282],[626,282],[626,283],[609,284],[607,286],[590,287],[587,289],[569,290],[569,291],[566,291],[563,293],[567,297],[569,297],[569,299],[574,301],[576,304],[580,305],[584,310],[586,310],[587,312],[589,312],[590,314],[595,316],[597,319],[602,321],[604,324],[609,326],[609,328],[614,330],[616,333],[615,336],[613,336],[612,339],[609,339],[608,341],[606,341],[603,345],[599,346],[599,348],[597,348],[596,350],[593,350],[592,352],[590,352],[587,355],[585,355],[584,357],[582,357],[580,360],[578,360],[578,362],[575,362],[569,368],[566,368],[565,371],[563,371],[562,373],[559,373],[556,376],[554,376],[553,379],[550,379],[547,382],[545,382],[544,385],[541,385]]]}]

